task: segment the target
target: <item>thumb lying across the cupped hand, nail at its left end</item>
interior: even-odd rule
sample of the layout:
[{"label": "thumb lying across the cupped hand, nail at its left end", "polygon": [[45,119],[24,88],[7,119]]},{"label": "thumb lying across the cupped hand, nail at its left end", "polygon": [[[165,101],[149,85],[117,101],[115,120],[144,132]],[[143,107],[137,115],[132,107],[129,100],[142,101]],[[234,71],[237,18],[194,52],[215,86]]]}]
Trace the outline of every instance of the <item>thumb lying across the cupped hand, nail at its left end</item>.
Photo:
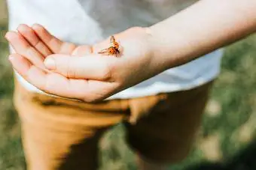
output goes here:
[{"label": "thumb lying across the cupped hand, nail at its left end", "polygon": [[97,79],[111,78],[108,60],[100,55],[71,56],[49,55],[44,60],[47,69],[60,73],[72,79]]}]

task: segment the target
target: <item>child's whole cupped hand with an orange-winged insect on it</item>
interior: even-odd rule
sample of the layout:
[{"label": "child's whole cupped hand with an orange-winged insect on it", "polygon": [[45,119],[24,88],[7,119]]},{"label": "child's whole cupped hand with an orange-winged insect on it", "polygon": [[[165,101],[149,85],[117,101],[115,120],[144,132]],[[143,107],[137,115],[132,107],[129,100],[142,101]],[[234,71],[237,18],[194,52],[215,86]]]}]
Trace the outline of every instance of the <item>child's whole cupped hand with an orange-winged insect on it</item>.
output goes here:
[{"label": "child's whole cupped hand with an orange-winged insect on it", "polygon": [[[160,59],[154,58],[145,28],[114,35],[120,43],[120,55],[115,57],[97,54],[110,46],[109,39],[95,46],[75,46],[56,39],[40,25],[21,27],[18,30],[24,38],[14,32],[6,36],[18,53],[10,61],[27,81],[50,94],[88,102],[102,100],[164,70]],[[29,50],[34,53],[26,53]],[[50,72],[41,69],[43,61]]]}]

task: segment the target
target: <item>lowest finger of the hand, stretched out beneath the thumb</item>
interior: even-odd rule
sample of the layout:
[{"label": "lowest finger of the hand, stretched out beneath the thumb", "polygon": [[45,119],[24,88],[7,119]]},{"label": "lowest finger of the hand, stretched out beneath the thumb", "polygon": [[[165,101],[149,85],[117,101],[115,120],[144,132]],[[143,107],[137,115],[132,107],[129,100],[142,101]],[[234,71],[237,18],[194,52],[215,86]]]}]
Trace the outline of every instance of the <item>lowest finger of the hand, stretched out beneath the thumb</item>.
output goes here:
[{"label": "lowest finger of the hand, stretched out beneath the thumb", "polygon": [[110,94],[108,91],[111,91],[111,84],[109,83],[85,79],[67,79],[58,73],[45,73],[18,54],[10,55],[9,60],[24,79],[49,94],[92,102],[108,97]]}]

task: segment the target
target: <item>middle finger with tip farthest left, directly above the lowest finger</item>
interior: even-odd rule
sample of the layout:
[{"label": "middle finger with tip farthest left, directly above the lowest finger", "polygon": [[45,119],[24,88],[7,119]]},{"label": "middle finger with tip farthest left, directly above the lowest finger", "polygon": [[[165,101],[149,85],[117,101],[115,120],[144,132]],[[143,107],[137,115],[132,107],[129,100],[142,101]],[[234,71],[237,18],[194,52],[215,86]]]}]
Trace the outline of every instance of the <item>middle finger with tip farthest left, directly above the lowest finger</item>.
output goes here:
[{"label": "middle finger with tip farthest left, directly above the lowest finger", "polygon": [[30,46],[30,44],[21,34],[14,31],[9,31],[7,34],[5,34],[5,38],[11,43],[11,46],[14,47],[14,50],[17,53],[26,56],[26,58],[36,67],[45,68],[44,56]]}]

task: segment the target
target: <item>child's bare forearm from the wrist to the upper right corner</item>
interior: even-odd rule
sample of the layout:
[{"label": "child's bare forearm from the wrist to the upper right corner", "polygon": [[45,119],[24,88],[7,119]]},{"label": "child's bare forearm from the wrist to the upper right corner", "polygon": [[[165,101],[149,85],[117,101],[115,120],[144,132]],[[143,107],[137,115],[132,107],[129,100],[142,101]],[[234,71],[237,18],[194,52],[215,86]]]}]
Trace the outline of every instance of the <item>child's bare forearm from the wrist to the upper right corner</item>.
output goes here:
[{"label": "child's bare forearm from the wrist to the upper right corner", "polygon": [[255,0],[202,0],[149,29],[164,69],[191,61],[256,31]]}]

